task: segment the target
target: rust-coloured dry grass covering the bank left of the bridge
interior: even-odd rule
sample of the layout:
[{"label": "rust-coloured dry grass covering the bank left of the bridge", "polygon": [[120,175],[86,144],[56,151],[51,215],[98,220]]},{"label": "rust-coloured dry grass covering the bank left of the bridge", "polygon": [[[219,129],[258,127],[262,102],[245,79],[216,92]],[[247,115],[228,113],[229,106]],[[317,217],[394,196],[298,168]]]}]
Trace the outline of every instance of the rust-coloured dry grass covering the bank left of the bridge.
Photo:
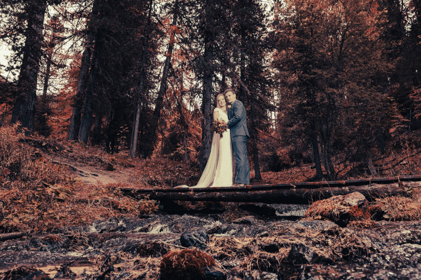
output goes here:
[{"label": "rust-coloured dry grass covering the bank left of the bridge", "polygon": [[23,137],[16,127],[0,128],[0,232],[48,232],[157,210],[156,201],[122,195],[117,188],[123,185],[82,184],[67,166],[51,164]]}]

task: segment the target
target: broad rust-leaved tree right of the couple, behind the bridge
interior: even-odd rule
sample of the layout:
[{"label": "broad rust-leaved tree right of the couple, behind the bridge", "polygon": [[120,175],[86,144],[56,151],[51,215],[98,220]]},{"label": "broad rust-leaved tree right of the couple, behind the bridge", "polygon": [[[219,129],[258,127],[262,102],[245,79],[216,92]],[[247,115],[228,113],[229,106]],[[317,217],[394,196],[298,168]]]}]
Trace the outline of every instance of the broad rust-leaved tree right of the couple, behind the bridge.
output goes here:
[{"label": "broad rust-leaved tree right of the couple, behind the bridge", "polygon": [[367,121],[369,115],[384,131],[399,125],[394,103],[373,80],[392,69],[381,40],[384,13],[376,1],[360,0],[292,0],[277,7],[274,66],[284,86],[282,134],[295,133],[287,136],[293,141],[305,135],[317,177],[321,161],[334,180],[342,167],[333,159],[364,160],[373,147],[378,126]]}]

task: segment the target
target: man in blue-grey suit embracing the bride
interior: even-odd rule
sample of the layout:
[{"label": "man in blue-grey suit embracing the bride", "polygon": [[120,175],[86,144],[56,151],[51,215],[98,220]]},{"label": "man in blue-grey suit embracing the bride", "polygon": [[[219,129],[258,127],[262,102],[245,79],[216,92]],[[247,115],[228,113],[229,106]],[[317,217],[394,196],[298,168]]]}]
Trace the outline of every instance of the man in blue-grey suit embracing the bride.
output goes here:
[{"label": "man in blue-grey suit embracing the bride", "polygon": [[[232,149],[234,150],[235,163],[237,164],[237,178],[234,186],[250,185],[250,164],[247,158],[247,141],[250,138],[247,129],[245,108],[237,100],[234,90],[227,89],[224,95],[228,103],[228,128],[231,132]],[[231,106],[231,108],[230,108]]]}]

